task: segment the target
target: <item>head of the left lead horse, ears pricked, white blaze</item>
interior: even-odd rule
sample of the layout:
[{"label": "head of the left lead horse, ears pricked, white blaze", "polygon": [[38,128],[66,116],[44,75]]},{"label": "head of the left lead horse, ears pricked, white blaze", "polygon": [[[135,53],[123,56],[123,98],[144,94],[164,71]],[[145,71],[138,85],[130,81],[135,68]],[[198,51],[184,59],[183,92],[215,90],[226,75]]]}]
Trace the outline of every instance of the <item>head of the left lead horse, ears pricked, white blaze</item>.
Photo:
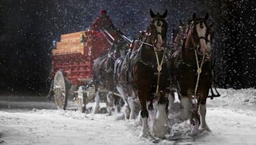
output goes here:
[{"label": "head of the left lead horse, ears pricked, white blaze", "polygon": [[157,51],[163,50],[163,45],[166,44],[166,32],[168,29],[168,24],[164,20],[167,15],[167,10],[164,11],[163,15],[159,13],[155,14],[150,10],[151,22],[150,22],[150,33],[151,39],[154,46],[156,46]]}]

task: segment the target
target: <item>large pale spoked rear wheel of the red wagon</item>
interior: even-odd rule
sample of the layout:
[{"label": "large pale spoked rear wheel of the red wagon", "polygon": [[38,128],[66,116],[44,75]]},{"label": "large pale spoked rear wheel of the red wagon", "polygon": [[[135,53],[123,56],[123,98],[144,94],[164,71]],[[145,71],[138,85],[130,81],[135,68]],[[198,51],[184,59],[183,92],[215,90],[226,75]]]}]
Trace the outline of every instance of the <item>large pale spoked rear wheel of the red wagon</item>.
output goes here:
[{"label": "large pale spoked rear wheel of the red wagon", "polygon": [[59,109],[66,109],[68,91],[67,81],[64,78],[62,71],[57,71],[54,76],[53,88],[54,88],[54,100]]}]

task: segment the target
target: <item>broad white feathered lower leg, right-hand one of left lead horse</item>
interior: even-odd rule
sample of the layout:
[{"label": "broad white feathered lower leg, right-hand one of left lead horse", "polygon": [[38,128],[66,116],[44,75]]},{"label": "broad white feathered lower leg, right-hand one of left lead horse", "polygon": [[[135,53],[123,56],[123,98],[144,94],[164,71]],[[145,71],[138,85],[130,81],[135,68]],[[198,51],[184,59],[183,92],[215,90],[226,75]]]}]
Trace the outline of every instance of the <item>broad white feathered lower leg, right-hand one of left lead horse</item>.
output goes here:
[{"label": "broad white feathered lower leg, right-hand one of left lead horse", "polygon": [[166,104],[157,104],[156,119],[153,124],[153,135],[154,137],[164,138],[164,134],[167,128],[168,116],[166,114]]}]

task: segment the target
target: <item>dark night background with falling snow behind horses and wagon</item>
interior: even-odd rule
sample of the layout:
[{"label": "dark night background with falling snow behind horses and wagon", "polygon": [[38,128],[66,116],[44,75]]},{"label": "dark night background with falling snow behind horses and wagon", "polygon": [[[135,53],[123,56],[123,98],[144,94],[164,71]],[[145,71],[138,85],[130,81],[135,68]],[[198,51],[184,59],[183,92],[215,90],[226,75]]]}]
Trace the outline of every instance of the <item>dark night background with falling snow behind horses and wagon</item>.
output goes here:
[{"label": "dark night background with falling snow behind horses and wagon", "polygon": [[150,8],[168,10],[169,41],[179,20],[191,19],[194,11],[201,17],[209,13],[218,87],[256,86],[254,1],[0,0],[0,93],[44,95],[50,86],[52,41],[86,30],[102,9],[132,37],[149,24]]}]

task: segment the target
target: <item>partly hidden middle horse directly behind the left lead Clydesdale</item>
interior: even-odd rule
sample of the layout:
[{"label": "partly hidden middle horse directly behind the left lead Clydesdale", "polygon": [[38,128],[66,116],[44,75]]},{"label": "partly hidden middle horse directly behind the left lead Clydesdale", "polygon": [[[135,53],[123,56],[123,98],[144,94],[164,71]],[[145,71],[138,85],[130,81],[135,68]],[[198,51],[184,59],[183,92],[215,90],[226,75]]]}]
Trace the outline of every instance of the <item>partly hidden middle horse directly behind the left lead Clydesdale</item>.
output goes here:
[{"label": "partly hidden middle horse directly behind the left lead Clydesdale", "polygon": [[131,66],[129,66],[129,60],[131,54],[140,48],[141,41],[144,38],[145,32],[140,31],[136,38],[133,39],[129,52],[124,57],[118,58],[115,62],[115,85],[116,90],[118,90],[124,100],[125,119],[134,120],[140,111],[137,92],[131,85]]}]

